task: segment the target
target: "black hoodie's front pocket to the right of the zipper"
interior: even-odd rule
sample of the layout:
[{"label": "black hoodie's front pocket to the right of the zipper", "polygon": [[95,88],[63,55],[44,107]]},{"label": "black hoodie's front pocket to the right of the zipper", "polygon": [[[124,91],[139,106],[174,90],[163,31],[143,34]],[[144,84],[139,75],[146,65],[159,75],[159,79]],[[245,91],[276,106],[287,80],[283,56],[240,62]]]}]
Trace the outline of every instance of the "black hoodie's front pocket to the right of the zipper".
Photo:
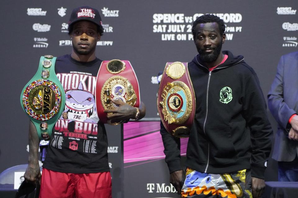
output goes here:
[{"label": "black hoodie's front pocket to the right of the zipper", "polygon": [[217,163],[230,163],[236,156],[230,127],[205,127],[210,137],[210,160]]}]

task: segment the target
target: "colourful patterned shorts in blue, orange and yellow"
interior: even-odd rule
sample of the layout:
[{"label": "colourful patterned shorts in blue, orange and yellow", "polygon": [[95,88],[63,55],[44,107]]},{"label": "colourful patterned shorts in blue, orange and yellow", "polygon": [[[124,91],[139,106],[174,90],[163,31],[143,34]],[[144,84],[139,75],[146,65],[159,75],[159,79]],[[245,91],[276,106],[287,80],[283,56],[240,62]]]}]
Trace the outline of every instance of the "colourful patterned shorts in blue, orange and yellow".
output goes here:
[{"label": "colourful patterned shorts in blue, orange and yellow", "polygon": [[181,197],[252,198],[251,172],[244,169],[229,174],[207,174],[187,168]]}]

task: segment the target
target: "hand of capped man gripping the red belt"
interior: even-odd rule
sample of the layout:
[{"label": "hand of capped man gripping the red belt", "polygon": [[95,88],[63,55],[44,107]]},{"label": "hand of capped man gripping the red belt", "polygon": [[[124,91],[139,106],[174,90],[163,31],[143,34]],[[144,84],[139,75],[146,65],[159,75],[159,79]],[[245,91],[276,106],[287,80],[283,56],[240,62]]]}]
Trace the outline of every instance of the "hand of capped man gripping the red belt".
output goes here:
[{"label": "hand of capped man gripping the red belt", "polygon": [[123,122],[130,118],[135,118],[135,115],[137,114],[137,109],[135,107],[132,107],[123,101],[114,100],[113,98],[111,98],[111,101],[116,105],[120,105],[118,108],[105,110],[105,113],[112,113],[106,116],[112,123]]}]

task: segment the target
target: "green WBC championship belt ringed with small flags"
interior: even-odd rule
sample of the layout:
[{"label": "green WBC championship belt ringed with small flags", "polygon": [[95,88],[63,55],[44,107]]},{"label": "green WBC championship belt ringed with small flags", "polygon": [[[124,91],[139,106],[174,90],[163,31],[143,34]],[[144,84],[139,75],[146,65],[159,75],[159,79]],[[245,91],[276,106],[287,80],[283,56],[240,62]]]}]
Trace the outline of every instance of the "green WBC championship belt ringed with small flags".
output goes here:
[{"label": "green WBC championship belt ringed with small flags", "polygon": [[21,106],[34,123],[39,139],[50,140],[52,128],[63,113],[65,94],[55,73],[56,57],[40,57],[38,71],[21,93]]}]

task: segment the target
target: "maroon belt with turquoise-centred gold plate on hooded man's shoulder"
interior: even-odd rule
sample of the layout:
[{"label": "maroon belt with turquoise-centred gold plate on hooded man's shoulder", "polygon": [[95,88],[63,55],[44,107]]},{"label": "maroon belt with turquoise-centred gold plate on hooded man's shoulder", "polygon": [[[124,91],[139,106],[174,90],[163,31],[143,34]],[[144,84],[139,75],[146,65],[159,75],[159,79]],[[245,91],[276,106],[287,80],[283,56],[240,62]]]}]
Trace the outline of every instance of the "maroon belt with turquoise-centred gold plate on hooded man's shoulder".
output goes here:
[{"label": "maroon belt with turquoise-centred gold plate on hooded man's shoulder", "polygon": [[187,62],[167,62],[158,89],[157,109],[165,129],[172,136],[189,136],[196,98]]}]

